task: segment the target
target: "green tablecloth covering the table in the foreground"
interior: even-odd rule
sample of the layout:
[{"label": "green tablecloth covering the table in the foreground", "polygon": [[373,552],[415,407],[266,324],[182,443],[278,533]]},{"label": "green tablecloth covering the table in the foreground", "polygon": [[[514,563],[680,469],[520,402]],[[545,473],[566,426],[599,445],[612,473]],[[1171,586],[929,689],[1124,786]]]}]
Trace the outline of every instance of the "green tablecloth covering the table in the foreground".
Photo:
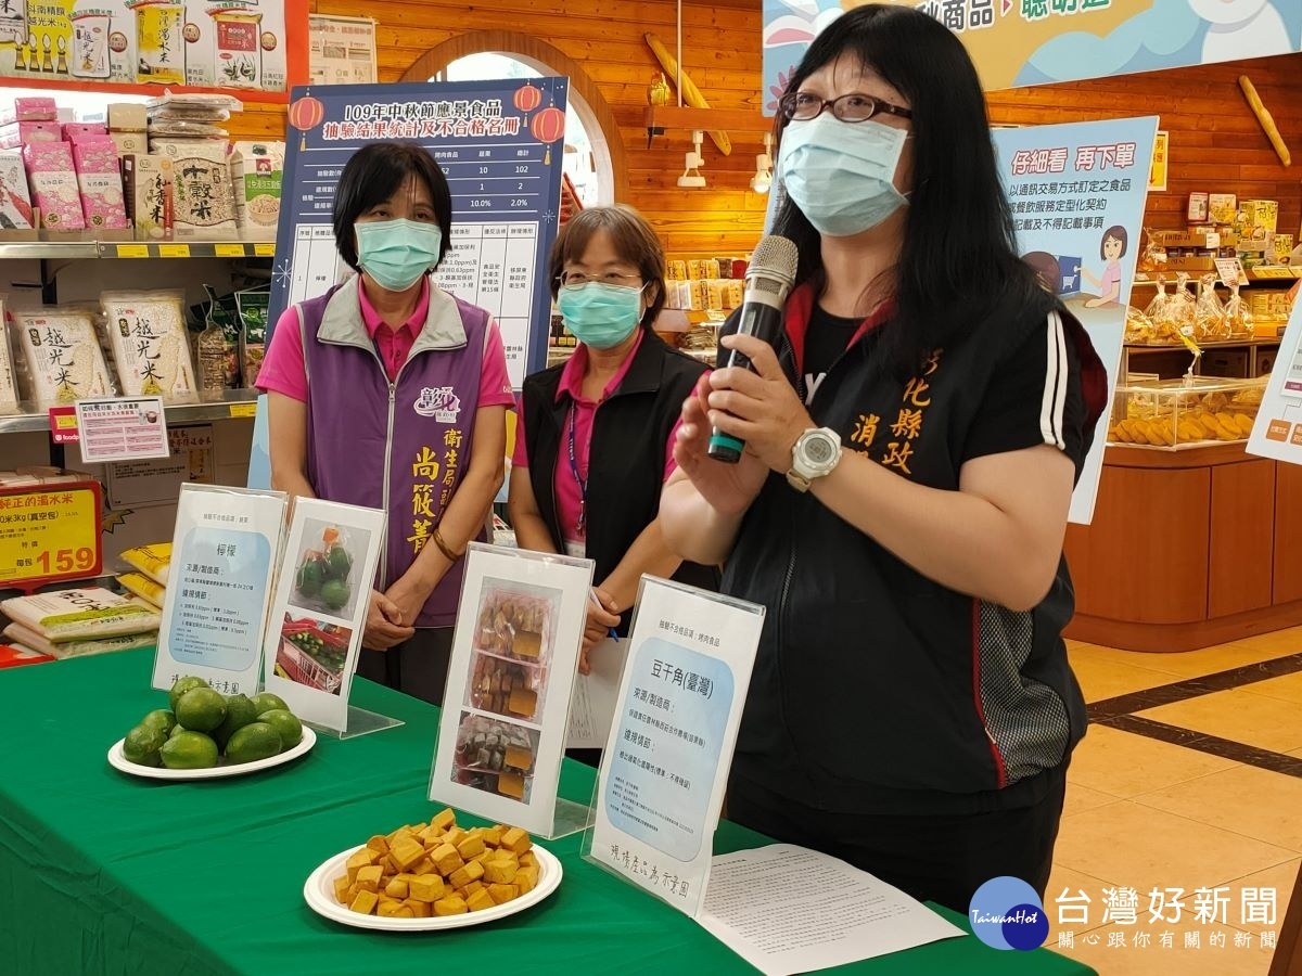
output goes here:
[{"label": "green tablecloth covering the table in the foreground", "polygon": [[[168,783],[113,770],[108,747],[161,692],[152,652],[0,671],[0,971],[23,976],[201,973],[747,973],[704,929],[582,860],[579,835],[546,843],[565,880],[503,921],[440,933],[350,929],[315,915],[307,874],[375,833],[430,817],[437,709],[359,681],[354,703],[406,721],[292,765]],[[591,796],[566,763],[561,791]],[[719,852],[763,838],[723,824]],[[944,912],[956,924],[961,916]],[[1087,973],[1047,950],[1000,953],[974,937],[844,971]]]}]

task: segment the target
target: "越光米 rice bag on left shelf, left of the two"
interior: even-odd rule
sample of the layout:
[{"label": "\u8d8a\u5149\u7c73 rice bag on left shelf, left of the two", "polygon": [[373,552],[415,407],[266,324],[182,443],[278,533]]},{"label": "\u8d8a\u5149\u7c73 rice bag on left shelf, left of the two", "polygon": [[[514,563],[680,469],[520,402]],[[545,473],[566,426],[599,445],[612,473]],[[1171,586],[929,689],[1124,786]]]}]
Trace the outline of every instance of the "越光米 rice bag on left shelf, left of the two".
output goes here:
[{"label": "\u8d8a\u5149\u7c73 rice bag on left shelf, left of the two", "polygon": [[16,351],[26,366],[26,398],[42,410],[117,393],[92,315],[74,306],[13,311]]}]

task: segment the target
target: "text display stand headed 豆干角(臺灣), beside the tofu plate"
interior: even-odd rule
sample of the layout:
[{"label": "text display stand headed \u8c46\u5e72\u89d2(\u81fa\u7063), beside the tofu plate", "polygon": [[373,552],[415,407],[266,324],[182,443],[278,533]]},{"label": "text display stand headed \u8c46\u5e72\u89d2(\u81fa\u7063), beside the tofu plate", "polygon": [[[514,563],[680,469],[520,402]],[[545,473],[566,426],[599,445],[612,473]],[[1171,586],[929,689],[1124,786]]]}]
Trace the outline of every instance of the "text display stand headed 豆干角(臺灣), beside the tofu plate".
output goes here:
[{"label": "text display stand headed \u8c46\u5e72\u89d2(\u81fa\u7063), beside the tofu plate", "polygon": [[697,917],[764,608],[642,576],[585,859]]}]

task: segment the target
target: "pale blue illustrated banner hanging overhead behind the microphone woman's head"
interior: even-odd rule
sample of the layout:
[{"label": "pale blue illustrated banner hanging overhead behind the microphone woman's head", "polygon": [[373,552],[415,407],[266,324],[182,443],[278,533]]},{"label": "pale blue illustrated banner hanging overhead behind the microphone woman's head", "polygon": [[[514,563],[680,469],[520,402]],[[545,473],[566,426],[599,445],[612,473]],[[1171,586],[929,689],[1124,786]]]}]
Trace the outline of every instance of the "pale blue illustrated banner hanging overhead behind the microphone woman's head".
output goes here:
[{"label": "pale blue illustrated banner hanging overhead behind the microphone woman's head", "polygon": [[[764,104],[867,0],[764,0]],[[892,0],[885,0],[891,3]],[[1299,0],[900,0],[958,34],[987,91],[1302,51]]]}]

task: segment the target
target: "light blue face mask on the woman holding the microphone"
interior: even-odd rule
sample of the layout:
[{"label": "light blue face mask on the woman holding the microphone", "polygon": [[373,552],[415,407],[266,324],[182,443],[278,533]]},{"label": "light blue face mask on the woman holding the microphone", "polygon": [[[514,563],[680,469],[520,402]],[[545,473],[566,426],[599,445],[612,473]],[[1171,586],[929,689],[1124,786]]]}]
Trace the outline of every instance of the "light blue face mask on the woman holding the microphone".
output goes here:
[{"label": "light blue face mask on the woman holding the microphone", "polygon": [[874,122],[848,124],[831,112],[792,122],[777,160],[792,203],[828,237],[850,237],[909,200],[894,187],[907,133]]}]

